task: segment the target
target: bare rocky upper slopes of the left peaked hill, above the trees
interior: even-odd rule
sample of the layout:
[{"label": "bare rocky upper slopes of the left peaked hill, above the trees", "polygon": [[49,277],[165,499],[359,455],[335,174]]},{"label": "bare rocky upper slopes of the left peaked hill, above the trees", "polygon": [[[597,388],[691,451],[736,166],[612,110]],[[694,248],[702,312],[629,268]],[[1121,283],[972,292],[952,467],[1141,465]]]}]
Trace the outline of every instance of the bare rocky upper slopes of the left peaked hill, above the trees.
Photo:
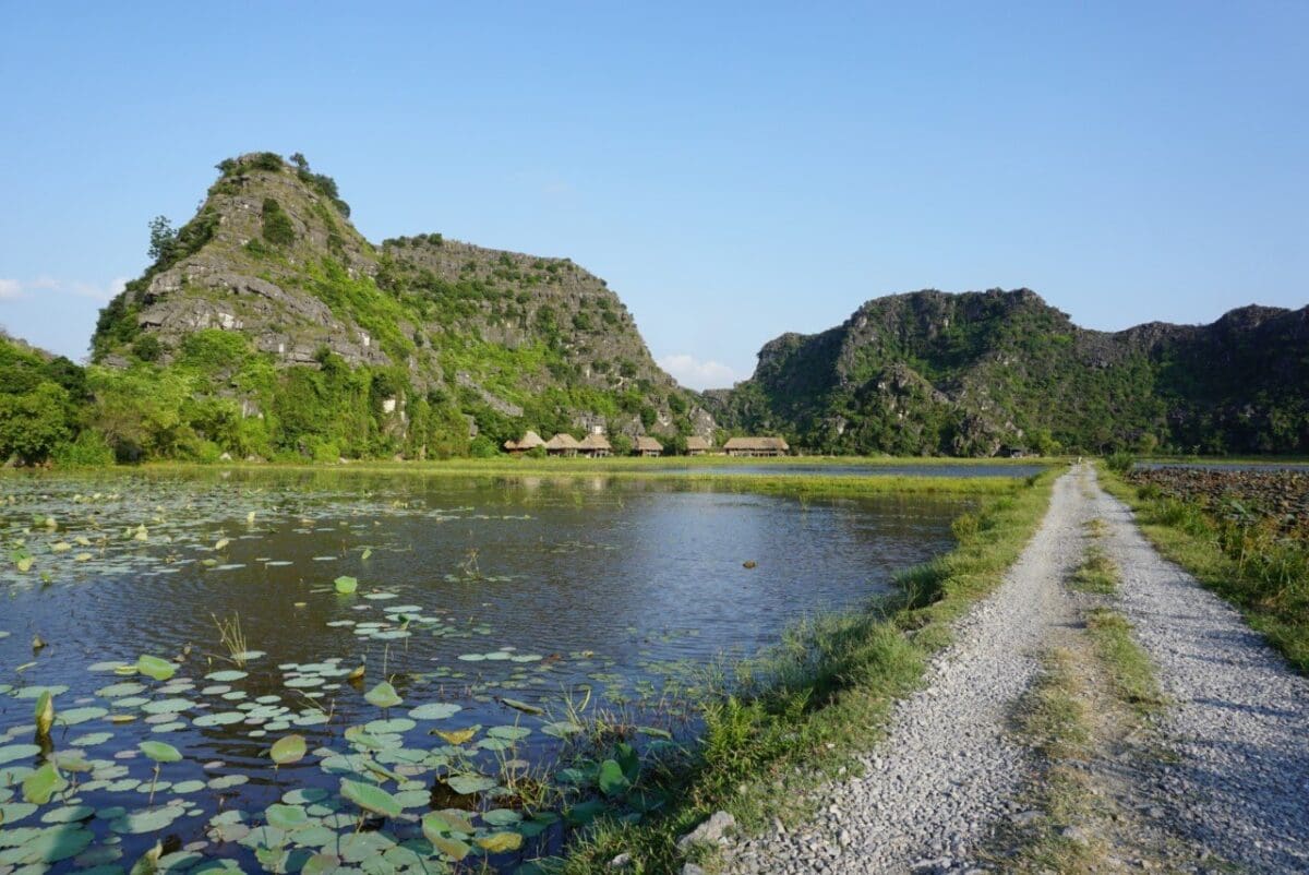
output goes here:
[{"label": "bare rocky upper slopes of the left peaked hill, above the trees", "polygon": [[97,363],[185,363],[192,338],[221,331],[279,371],[321,368],[329,356],[387,371],[399,409],[404,396],[425,397],[497,440],[525,428],[713,430],[602,279],[568,259],[440,234],[373,245],[335,182],[295,157],[219,165],[195,217],[102,313]]}]

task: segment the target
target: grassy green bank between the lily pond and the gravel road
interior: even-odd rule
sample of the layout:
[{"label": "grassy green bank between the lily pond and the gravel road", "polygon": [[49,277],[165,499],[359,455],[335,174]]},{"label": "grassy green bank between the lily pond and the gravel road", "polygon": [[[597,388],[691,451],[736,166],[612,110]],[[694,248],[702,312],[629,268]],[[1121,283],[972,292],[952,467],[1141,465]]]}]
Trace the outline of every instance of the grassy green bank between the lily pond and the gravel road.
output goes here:
[{"label": "grassy green bank between the lily pond and the gravel road", "polygon": [[[793,627],[766,656],[737,667],[730,692],[702,702],[704,731],[675,769],[649,778],[675,802],[639,823],[605,821],[548,868],[564,875],[677,871],[677,838],[709,813],[746,830],[809,813],[808,792],[857,769],[890,706],[922,680],[950,641],[952,621],[991,592],[1035,532],[1056,472],[986,498],[956,520],[952,553],[901,579],[898,593],[856,613]],[[644,779],[644,778],[643,778]],[[695,851],[692,851],[692,857]]]}]

